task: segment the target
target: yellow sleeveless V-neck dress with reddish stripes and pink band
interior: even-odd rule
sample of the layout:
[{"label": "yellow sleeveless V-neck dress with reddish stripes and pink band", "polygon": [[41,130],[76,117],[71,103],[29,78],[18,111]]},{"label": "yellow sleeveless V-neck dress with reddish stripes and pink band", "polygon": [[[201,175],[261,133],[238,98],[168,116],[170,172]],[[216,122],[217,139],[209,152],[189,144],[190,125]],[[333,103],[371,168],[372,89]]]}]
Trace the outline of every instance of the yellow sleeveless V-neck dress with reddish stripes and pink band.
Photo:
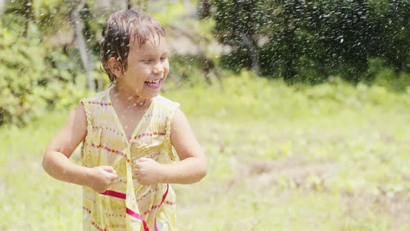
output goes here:
[{"label": "yellow sleeveless V-neck dress with reddish stripes and pink band", "polygon": [[104,193],[83,186],[83,230],[177,230],[176,198],[170,184],[138,184],[131,164],[140,157],[161,164],[178,158],[170,141],[170,125],[179,104],[155,97],[128,140],[113,108],[110,89],[81,99],[88,122],[83,166],[113,166],[118,176]]}]

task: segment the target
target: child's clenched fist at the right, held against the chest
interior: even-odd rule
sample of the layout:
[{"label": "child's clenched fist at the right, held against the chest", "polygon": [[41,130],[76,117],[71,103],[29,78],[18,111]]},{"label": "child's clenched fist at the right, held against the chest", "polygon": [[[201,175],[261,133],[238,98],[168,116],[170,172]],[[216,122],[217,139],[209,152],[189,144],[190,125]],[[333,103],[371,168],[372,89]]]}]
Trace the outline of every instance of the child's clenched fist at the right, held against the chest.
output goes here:
[{"label": "child's clenched fist at the right, held against the chest", "polygon": [[158,184],[161,180],[162,168],[162,165],[154,159],[141,157],[133,162],[133,178],[142,185]]}]

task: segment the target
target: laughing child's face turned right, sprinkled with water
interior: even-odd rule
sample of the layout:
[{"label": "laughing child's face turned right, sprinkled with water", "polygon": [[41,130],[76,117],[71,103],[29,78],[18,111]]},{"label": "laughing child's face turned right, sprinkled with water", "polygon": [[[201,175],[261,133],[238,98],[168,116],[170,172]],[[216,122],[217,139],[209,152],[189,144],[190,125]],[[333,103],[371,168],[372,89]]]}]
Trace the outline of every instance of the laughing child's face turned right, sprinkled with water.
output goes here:
[{"label": "laughing child's face turned right, sprinkled with water", "polygon": [[118,80],[123,90],[151,99],[159,94],[169,71],[167,42],[165,38],[155,36],[141,46],[131,42],[128,67],[124,77]]}]

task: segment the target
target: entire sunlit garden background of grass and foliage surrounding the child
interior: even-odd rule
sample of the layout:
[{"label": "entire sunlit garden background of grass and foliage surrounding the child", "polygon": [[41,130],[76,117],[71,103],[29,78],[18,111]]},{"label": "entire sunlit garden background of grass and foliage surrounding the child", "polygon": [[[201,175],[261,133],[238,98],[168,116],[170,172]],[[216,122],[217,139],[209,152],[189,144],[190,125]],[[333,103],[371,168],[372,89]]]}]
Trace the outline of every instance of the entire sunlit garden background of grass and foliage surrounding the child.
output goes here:
[{"label": "entire sunlit garden background of grass and foliage surrounding the child", "polygon": [[81,187],[42,155],[134,7],[208,157],[174,186],[179,230],[410,230],[410,0],[0,0],[0,230],[81,230]]}]

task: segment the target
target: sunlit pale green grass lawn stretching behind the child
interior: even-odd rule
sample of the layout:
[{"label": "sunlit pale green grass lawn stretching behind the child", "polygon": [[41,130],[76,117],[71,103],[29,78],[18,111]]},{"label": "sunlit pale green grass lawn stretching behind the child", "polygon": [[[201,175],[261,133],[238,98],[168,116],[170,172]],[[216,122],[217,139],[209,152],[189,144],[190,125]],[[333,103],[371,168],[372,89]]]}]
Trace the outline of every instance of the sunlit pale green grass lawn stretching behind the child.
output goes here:
[{"label": "sunlit pale green grass lawn stretching behind the child", "polygon": [[[204,180],[174,185],[180,230],[410,230],[409,93],[243,72],[165,96],[208,157]],[[65,118],[0,128],[0,230],[81,228],[81,188],[41,167]]]}]

